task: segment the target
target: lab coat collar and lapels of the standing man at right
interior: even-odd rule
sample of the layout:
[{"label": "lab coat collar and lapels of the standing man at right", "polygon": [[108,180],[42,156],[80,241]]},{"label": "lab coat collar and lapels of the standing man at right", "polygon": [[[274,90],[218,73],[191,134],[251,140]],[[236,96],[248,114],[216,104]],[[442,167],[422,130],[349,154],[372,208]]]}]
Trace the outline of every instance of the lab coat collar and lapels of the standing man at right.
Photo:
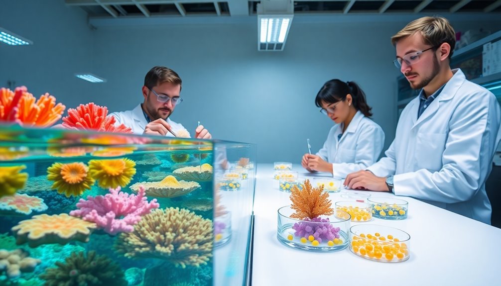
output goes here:
[{"label": "lab coat collar and lapels of the standing man at right", "polygon": [[[413,128],[415,126],[417,126],[419,123],[421,123],[423,120],[425,120],[428,117],[430,117],[431,115],[435,114],[438,111],[438,107],[440,106],[440,102],[450,100],[450,99],[452,99],[452,97],[454,97],[454,95],[456,94],[459,87],[461,87],[461,85],[463,84],[466,77],[464,76],[464,73],[459,68],[453,69],[452,73],[454,75],[449,79],[449,81],[447,81],[447,83],[445,83],[445,86],[443,87],[442,92],[440,92],[440,94],[437,96],[437,98],[435,98],[435,100],[433,100],[430,103],[430,106],[428,106],[428,108],[426,108],[424,110],[423,114],[421,114],[421,116],[419,116],[419,118],[417,118],[417,120],[414,122],[414,125],[412,126]],[[414,102],[414,105],[411,106],[410,112],[413,112],[411,114],[416,114],[416,117],[417,117],[417,108],[419,108],[419,104],[418,104],[419,96],[418,96],[417,100],[413,100],[413,101],[415,101],[415,102]],[[416,109],[416,110],[414,110],[414,109]]]}]

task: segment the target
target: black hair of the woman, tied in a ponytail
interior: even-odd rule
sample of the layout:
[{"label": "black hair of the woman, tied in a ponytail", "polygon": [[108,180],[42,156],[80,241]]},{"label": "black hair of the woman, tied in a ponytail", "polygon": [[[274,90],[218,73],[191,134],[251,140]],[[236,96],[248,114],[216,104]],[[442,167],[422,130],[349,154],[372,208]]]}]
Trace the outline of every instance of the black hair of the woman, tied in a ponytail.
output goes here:
[{"label": "black hair of the woman, tied in a ponytail", "polygon": [[353,81],[344,82],[339,79],[327,81],[317,93],[315,104],[322,107],[322,102],[336,103],[345,100],[348,94],[351,94],[353,106],[356,110],[360,110],[367,117],[372,116],[372,108],[367,105],[364,91]]}]

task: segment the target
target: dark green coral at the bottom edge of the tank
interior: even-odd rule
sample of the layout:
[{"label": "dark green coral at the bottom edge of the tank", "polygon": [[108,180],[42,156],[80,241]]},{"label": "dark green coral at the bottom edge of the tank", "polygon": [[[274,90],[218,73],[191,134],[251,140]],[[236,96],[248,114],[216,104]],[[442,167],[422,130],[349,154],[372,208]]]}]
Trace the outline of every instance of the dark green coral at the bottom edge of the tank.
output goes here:
[{"label": "dark green coral at the bottom edge of the tank", "polygon": [[46,280],[46,286],[127,286],[124,272],[106,255],[97,255],[89,251],[72,252],[65,262],[56,262],[56,268],[48,268],[40,278]]}]

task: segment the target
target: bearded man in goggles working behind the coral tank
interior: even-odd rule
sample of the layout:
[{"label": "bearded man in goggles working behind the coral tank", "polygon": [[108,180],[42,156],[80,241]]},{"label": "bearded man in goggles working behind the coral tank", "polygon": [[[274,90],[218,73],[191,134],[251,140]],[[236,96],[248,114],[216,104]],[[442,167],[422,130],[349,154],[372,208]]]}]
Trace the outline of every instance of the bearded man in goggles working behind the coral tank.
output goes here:
[{"label": "bearded man in goggles working behind the coral tank", "polygon": [[[182,81],[172,69],[164,66],[155,66],[146,73],[142,87],[144,101],[133,110],[113,112],[117,121],[132,128],[135,134],[149,134],[161,136],[189,137],[189,132],[180,123],[172,121],[169,116],[177,104],[182,102],[179,96]],[[211,135],[199,125],[195,129],[195,138],[210,139]]]}]

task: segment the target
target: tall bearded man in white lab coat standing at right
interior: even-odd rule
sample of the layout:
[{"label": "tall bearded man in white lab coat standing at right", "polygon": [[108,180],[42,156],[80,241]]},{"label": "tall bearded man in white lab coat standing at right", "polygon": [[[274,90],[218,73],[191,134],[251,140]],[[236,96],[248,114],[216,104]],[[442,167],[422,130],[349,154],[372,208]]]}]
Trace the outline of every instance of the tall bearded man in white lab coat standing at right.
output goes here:
[{"label": "tall bearded man in white lab coat standing at right", "polygon": [[416,19],[391,41],[395,65],[420,93],[402,111],[386,156],[344,184],[412,196],[490,224],[485,180],[501,140],[495,96],[451,70],[455,33],[447,19]]}]

